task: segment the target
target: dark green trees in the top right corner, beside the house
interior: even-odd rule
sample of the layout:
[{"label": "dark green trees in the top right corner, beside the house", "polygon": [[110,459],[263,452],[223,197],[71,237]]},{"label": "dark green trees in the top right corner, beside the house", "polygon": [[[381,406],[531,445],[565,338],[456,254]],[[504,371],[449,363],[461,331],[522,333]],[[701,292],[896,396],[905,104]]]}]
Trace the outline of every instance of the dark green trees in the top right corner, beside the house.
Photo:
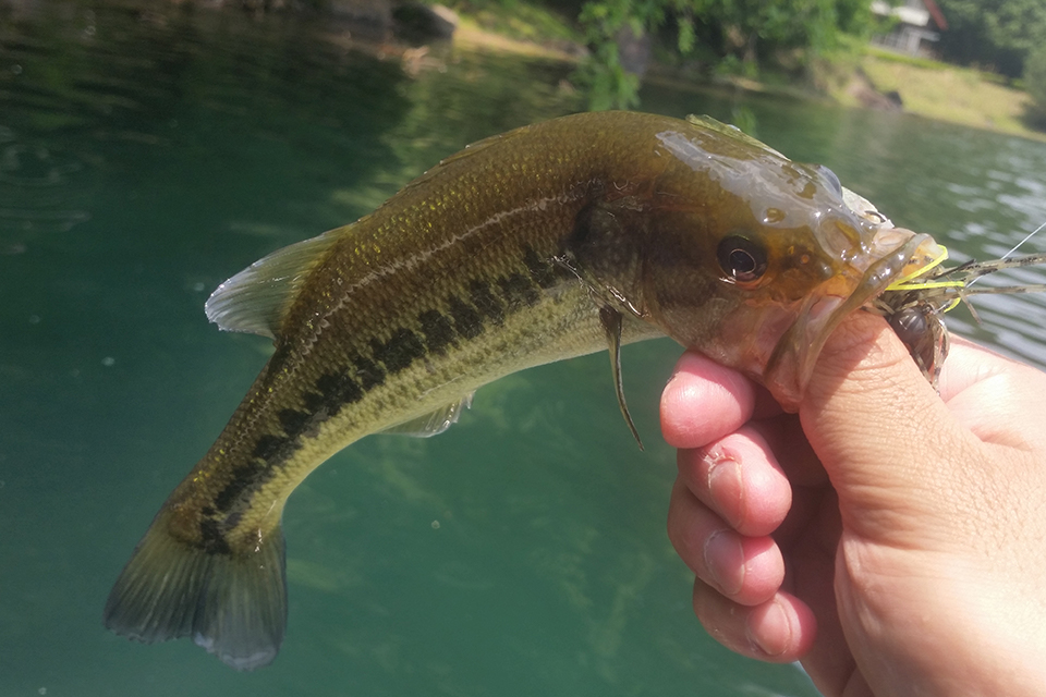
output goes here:
[{"label": "dark green trees in the top right corner, beside the house", "polygon": [[962,65],[1019,77],[1025,58],[1046,40],[1042,0],[938,0],[938,4],[948,21],[940,51]]}]

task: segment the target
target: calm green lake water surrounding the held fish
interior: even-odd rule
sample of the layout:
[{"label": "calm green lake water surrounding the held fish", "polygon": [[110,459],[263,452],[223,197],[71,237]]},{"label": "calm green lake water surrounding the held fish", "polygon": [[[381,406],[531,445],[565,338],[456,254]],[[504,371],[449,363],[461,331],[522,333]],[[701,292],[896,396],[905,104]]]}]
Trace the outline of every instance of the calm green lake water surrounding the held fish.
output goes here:
[{"label": "calm green lake water surrounding the held fish", "polygon": [[[482,390],[446,435],[372,438],[284,517],[290,624],[252,674],[188,640],[101,627],[109,586],[266,359],[203,303],[288,243],[354,220],[464,144],[577,110],[568,70],[158,5],[0,10],[0,696],[789,695],[690,609],[666,538],[656,406],[679,350],[625,350],[647,451],[606,356]],[[356,36],[356,35],[354,35]],[[824,162],[896,222],[997,257],[1046,221],[1046,146],[896,114],[648,87]],[[1042,249],[1046,243],[1032,243]],[[1021,282],[1043,282],[1036,270]],[[1046,366],[1046,303],[984,327]]]}]

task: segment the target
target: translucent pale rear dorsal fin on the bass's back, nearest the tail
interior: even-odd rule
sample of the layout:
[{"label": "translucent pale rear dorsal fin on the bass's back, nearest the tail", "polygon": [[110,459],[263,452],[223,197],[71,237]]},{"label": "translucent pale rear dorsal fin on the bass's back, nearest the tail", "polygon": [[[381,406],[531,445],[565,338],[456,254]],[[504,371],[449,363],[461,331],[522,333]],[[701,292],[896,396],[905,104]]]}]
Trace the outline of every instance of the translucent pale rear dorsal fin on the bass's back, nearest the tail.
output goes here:
[{"label": "translucent pale rear dorsal fin on the bass's back, nearest the tail", "polygon": [[207,319],[226,331],[276,339],[302,283],[344,228],[277,249],[222,283],[204,306]]}]

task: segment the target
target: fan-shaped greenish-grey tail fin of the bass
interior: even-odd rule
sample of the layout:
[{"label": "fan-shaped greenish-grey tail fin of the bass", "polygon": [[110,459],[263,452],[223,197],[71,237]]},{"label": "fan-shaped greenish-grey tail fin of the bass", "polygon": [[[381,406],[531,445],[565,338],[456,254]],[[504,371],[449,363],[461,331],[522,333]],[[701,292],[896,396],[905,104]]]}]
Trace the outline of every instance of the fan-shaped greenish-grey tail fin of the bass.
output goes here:
[{"label": "fan-shaped greenish-grey tail fin of the bass", "polygon": [[192,636],[241,671],[272,662],[287,627],[282,527],[248,554],[220,554],[179,541],[167,519],[157,515],[109,592],[106,626],[146,644]]}]

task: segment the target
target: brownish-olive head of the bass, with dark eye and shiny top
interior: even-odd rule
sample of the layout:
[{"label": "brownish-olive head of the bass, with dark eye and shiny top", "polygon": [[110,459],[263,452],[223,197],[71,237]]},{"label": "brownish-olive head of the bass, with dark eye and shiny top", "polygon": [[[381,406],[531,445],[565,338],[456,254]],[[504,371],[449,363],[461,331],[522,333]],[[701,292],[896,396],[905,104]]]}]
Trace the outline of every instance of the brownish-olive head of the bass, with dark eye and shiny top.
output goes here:
[{"label": "brownish-olive head of the bass, with dark eye and shiny top", "polygon": [[[669,150],[685,167],[680,181],[662,180],[671,196],[652,227],[650,319],[794,411],[842,318],[941,248],[844,199],[826,168],[768,149],[709,157],[705,143],[676,135]],[[686,169],[696,183],[682,181]]]}]

